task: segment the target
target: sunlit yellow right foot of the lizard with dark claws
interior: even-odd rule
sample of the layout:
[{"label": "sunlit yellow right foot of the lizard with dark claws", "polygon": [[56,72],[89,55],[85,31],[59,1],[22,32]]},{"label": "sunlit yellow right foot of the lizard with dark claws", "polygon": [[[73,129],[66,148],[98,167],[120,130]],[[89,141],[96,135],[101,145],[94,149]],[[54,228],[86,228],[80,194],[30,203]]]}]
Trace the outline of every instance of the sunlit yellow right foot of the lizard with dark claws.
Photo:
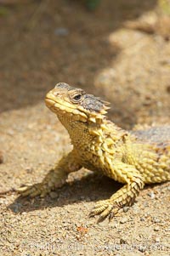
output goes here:
[{"label": "sunlit yellow right foot of the lizard with dark claws", "polygon": [[94,215],[99,215],[98,223],[103,221],[107,216],[109,220],[118,213],[122,207],[116,203],[111,202],[110,199],[102,200],[96,203],[94,209],[89,213],[88,217],[94,217]]}]

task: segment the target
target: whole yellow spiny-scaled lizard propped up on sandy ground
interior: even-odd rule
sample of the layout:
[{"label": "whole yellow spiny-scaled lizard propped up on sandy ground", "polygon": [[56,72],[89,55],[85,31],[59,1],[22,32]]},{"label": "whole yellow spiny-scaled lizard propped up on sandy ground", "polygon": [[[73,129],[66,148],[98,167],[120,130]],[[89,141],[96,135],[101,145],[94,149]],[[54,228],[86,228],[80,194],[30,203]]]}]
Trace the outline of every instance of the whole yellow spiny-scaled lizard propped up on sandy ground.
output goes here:
[{"label": "whole yellow spiny-scaled lizard propped up on sandy ground", "polygon": [[125,184],[96,203],[89,215],[100,214],[100,221],[131,206],[144,184],[170,180],[170,126],[127,132],[105,117],[107,102],[64,82],[45,101],[70,134],[73,150],[42,183],[20,188],[22,196],[45,196],[65,184],[69,173],[88,168]]}]

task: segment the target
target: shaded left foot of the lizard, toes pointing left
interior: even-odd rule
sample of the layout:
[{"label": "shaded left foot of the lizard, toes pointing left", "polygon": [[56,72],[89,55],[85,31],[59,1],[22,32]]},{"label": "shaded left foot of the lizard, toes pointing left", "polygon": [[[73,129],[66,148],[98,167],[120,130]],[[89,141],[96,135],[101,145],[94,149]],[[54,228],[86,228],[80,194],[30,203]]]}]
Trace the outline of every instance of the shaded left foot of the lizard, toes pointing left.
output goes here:
[{"label": "shaded left foot of the lizard, toes pointing left", "polygon": [[20,196],[22,197],[25,197],[25,196],[44,197],[51,191],[51,189],[48,187],[48,185],[45,185],[43,183],[37,183],[34,185],[26,185],[26,186],[20,187],[17,191],[18,193],[20,193]]}]

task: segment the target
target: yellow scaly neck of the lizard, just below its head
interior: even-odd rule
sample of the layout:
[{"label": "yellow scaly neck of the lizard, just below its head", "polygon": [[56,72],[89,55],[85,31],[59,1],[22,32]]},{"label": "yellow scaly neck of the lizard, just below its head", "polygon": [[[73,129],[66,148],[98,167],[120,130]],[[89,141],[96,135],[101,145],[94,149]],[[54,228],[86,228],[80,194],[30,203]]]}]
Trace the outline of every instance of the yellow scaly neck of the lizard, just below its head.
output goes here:
[{"label": "yellow scaly neck of the lizard, just below its head", "polygon": [[76,121],[70,115],[58,114],[58,118],[67,129],[71,144],[80,151],[90,151],[91,145],[101,145],[106,138],[111,139],[111,144],[116,144],[127,133],[106,118],[97,122]]}]

